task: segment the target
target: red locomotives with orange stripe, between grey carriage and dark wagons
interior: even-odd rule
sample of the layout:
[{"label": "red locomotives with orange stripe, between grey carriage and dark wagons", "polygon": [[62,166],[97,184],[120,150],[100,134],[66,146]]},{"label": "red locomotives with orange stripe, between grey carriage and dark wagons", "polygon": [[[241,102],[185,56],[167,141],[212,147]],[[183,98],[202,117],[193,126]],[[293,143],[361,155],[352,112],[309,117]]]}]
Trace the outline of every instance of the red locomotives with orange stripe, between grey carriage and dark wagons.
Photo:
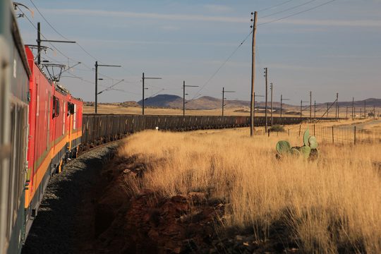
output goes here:
[{"label": "red locomotives with orange stripe, between grey carriage and dark wagons", "polygon": [[50,81],[25,47],[30,66],[28,174],[25,191],[26,228],[37,215],[49,177],[61,172],[62,165],[75,157],[82,135],[83,102],[68,90]]}]

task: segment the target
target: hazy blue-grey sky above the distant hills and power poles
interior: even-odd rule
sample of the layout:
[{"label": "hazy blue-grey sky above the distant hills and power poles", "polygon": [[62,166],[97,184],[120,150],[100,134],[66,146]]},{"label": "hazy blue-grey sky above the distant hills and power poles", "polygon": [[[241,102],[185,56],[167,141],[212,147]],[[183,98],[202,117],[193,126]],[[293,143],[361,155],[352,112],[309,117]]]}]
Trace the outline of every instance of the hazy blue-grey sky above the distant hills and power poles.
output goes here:
[{"label": "hazy blue-grey sky above the distant hills and power poles", "polygon": [[[123,102],[141,99],[143,71],[146,76],[162,78],[146,80],[147,97],[157,93],[182,96],[183,80],[187,85],[205,85],[249,34],[251,11],[259,11],[260,24],[329,0],[32,1],[56,30],[78,42],[95,59],[123,66],[99,67],[100,78],[104,78],[99,80],[99,90],[124,81],[114,87],[118,90],[98,96],[99,102]],[[63,40],[30,0],[20,2],[34,11],[32,17],[23,9],[32,23],[41,22],[45,37]],[[35,28],[26,18],[18,18],[18,23],[25,44],[35,44]],[[76,44],[54,45],[70,59],[56,50],[42,54],[44,59],[69,65],[81,62],[63,74],[61,84],[75,97],[94,101],[95,59]],[[333,101],[336,92],[341,101],[380,98],[380,47],[381,0],[336,0],[258,25],[255,92],[265,94],[263,68],[267,67],[269,83],[274,83],[274,100],[282,93],[298,104],[309,99],[309,91],[317,102]],[[226,95],[228,99],[248,100],[250,77],[249,37],[204,89],[188,88],[187,99],[221,97],[225,87],[236,91]]]}]

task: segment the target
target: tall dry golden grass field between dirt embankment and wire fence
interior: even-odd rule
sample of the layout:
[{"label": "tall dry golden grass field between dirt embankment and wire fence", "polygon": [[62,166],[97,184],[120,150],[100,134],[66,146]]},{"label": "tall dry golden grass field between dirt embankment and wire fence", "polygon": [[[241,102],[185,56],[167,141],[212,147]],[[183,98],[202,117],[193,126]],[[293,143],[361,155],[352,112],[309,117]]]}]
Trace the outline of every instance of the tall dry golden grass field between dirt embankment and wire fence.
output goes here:
[{"label": "tall dry golden grass field between dirt embankment and wire fence", "polygon": [[[316,162],[275,158],[278,140],[249,137],[248,128],[132,135],[119,154],[147,165],[130,188],[173,196],[205,191],[226,202],[227,227],[254,229],[266,238],[274,224],[286,226],[306,253],[381,253],[381,144],[320,144]],[[378,166],[380,167],[380,166]]]}]

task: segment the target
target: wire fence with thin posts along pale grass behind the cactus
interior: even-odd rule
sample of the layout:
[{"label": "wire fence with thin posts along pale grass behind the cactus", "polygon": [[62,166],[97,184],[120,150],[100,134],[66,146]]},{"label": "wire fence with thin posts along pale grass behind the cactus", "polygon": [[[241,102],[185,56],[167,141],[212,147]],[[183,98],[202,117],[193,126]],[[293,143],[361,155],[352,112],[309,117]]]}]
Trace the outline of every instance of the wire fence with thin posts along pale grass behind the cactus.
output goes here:
[{"label": "wire fence with thin posts along pale grass behind the cactus", "polygon": [[[353,144],[358,143],[381,143],[381,130],[368,130],[358,126],[317,126],[315,124],[301,124],[291,128],[285,128],[286,135],[303,137],[306,129],[310,135],[315,135],[320,142],[333,144]],[[255,131],[255,135],[279,135],[279,132],[271,132],[270,129]]]}]

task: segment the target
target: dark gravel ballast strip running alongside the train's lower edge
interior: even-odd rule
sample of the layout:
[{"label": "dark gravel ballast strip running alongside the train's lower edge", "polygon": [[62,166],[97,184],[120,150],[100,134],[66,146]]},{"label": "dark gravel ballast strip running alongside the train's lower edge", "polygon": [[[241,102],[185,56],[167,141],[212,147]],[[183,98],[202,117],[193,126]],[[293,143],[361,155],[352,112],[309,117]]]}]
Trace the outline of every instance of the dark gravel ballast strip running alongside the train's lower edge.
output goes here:
[{"label": "dark gravel ballast strip running alongside the train's lower edge", "polygon": [[91,150],[66,164],[61,174],[52,176],[23,254],[78,253],[83,225],[89,224],[83,216],[84,205],[96,195],[94,188],[99,186],[103,166],[114,156],[117,146],[111,143]]}]

